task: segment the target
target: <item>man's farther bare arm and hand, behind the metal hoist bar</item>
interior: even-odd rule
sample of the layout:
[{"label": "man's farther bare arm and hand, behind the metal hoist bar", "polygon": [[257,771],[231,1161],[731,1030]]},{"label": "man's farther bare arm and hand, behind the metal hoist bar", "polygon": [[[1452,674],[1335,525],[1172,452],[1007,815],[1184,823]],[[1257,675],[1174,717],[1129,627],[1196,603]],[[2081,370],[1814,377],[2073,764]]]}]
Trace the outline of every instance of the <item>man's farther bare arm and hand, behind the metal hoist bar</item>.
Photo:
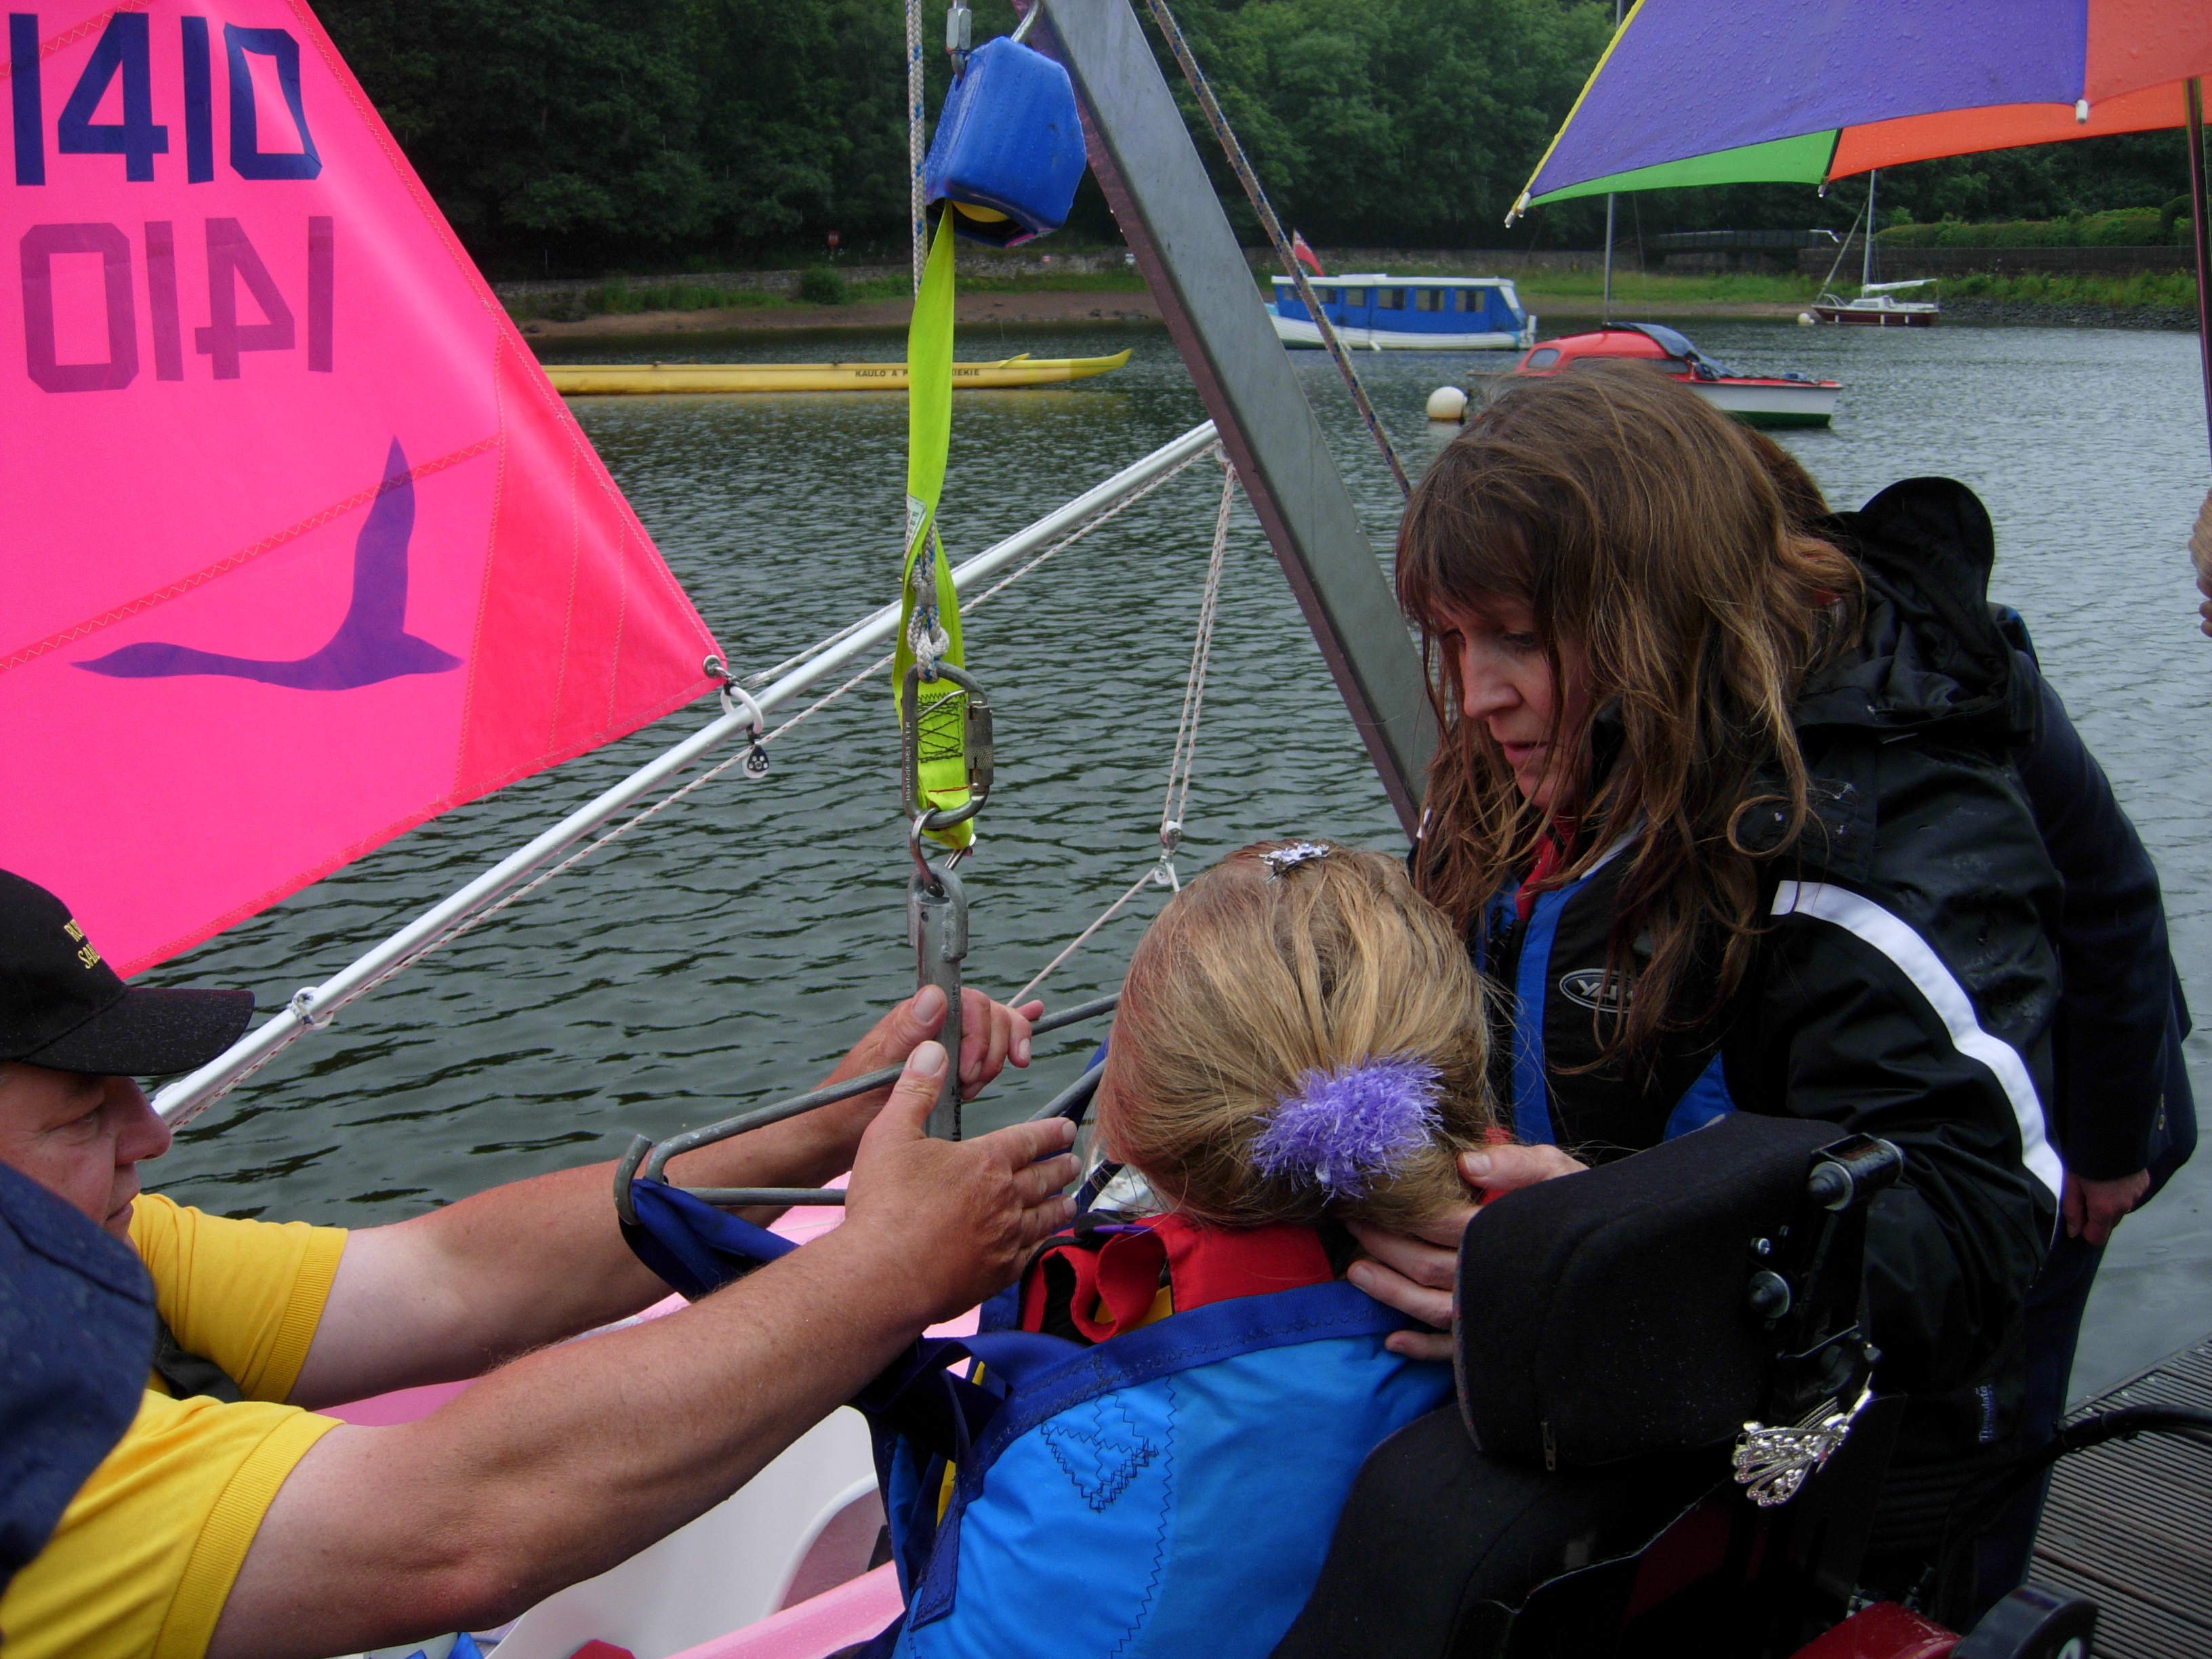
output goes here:
[{"label": "man's farther bare arm and hand, behind the metal hoist bar", "polygon": [[[1029,1064],[1029,1020],[1037,1011],[967,993],[964,1093],[982,1088],[1009,1060]],[[942,1024],[945,993],[929,987],[883,1015],[825,1082],[896,1066]],[[675,1159],[668,1177],[684,1186],[821,1186],[852,1168],[860,1133],[887,1093],[703,1146]],[[668,1285],[622,1241],[613,1183],[613,1164],[591,1164],[347,1237],[292,1405],[312,1409],[480,1376],[661,1301]],[[763,1223],[772,1214],[748,1212]]]}]

